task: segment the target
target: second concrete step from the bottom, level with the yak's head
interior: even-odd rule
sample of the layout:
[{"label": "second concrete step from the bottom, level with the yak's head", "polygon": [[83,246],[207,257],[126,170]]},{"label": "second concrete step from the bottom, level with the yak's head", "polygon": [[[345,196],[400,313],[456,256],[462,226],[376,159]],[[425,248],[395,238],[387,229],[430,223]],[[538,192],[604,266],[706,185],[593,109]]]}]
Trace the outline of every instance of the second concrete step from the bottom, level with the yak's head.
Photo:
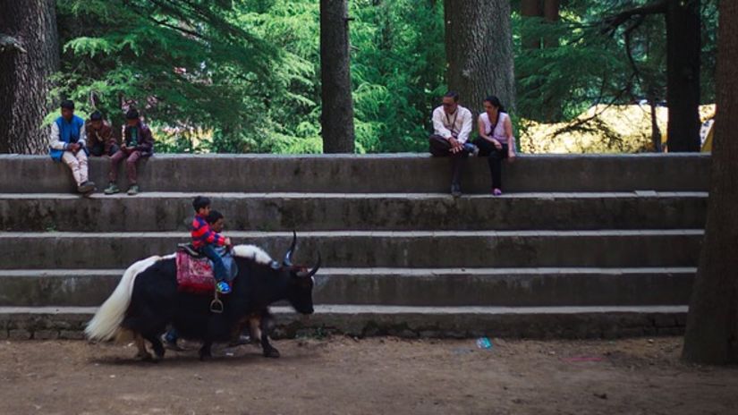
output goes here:
[{"label": "second concrete step from the bottom, level with the yak's head", "polygon": [[[323,268],[317,304],[395,306],[683,305],[696,269]],[[0,270],[0,307],[98,306],[123,269]]]}]

